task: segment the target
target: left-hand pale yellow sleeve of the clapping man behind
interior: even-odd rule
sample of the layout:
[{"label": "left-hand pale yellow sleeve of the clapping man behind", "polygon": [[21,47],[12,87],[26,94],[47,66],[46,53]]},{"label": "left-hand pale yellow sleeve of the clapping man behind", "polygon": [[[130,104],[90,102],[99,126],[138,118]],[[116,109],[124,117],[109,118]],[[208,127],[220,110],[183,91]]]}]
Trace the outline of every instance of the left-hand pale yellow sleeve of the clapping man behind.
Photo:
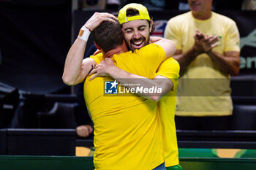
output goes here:
[{"label": "left-hand pale yellow sleeve of the clapping man behind", "polygon": [[171,39],[176,45],[177,50],[182,50],[182,34],[181,29],[178,27],[178,23],[175,20],[170,19],[165,27],[165,39]]}]

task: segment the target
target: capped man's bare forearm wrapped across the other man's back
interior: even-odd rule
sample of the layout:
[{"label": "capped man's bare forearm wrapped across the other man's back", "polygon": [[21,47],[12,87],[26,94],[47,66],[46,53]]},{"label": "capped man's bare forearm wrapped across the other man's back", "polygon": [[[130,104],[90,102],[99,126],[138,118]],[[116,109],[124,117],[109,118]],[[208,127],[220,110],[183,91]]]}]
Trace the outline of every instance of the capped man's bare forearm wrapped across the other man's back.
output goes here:
[{"label": "capped man's bare forearm wrapped across the other man's back", "polygon": [[173,88],[173,83],[167,78],[158,79],[148,79],[146,77],[139,76],[137,74],[131,74],[116,66],[111,67],[108,72],[110,77],[113,77],[117,82],[126,88],[159,88],[161,93],[137,93],[140,96],[149,98],[154,101],[159,101],[162,96]]}]

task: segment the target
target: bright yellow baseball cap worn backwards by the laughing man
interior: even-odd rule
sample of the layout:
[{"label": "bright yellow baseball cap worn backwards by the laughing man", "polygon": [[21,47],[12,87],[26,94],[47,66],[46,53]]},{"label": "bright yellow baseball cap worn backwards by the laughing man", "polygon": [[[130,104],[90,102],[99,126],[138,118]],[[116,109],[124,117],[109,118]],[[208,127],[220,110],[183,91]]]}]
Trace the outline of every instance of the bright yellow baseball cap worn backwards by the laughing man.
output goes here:
[{"label": "bright yellow baseball cap worn backwards by the laughing man", "polygon": [[[128,8],[137,9],[139,11],[139,15],[127,17]],[[128,21],[131,21],[131,20],[150,20],[148,15],[148,9],[146,9],[146,7],[144,7],[142,4],[132,3],[132,4],[127,4],[122,9],[119,10],[118,21],[120,24],[127,23]]]}]

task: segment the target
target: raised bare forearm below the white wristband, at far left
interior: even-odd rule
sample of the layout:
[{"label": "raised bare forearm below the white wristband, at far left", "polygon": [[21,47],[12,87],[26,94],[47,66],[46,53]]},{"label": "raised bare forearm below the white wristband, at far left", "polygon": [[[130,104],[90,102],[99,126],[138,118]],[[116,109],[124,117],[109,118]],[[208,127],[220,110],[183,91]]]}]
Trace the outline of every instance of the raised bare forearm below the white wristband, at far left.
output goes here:
[{"label": "raised bare forearm below the white wristband, at far left", "polygon": [[67,54],[62,80],[67,85],[75,85],[83,81],[81,77],[83,55],[87,42],[77,38]]}]

